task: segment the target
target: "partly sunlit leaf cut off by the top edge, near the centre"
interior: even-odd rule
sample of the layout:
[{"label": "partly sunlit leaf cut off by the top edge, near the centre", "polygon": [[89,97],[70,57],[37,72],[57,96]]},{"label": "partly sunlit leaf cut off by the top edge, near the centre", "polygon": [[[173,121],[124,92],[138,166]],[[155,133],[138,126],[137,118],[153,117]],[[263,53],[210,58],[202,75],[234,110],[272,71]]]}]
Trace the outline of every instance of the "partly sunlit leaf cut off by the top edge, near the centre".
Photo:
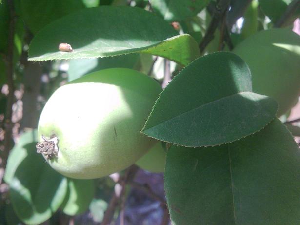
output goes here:
[{"label": "partly sunlit leaf cut off by the top edge, near the centre", "polygon": [[169,22],[196,16],[210,0],[150,0],[157,14]]}]

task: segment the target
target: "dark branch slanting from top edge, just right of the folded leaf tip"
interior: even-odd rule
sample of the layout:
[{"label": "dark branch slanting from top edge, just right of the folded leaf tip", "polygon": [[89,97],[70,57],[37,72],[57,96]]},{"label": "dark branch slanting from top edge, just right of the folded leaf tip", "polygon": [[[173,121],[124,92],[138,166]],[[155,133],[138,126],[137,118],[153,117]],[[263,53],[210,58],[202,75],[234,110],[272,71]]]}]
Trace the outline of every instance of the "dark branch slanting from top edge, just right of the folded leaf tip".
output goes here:
[{"label": "dark branch slanting from top edge, just right of the folded leaf tip", "polygon": [[202,39],[202,41],[199,44],[200,52],[202,53],[206,46],[209,44],[210,41],[214,39],[214,33],[216,28],[219,25],[220,20],[223,18],[224,13],[227,11],[230,4],[230,0],[219,0],[214,12],[212,20],[209,24],[209,27]]}]

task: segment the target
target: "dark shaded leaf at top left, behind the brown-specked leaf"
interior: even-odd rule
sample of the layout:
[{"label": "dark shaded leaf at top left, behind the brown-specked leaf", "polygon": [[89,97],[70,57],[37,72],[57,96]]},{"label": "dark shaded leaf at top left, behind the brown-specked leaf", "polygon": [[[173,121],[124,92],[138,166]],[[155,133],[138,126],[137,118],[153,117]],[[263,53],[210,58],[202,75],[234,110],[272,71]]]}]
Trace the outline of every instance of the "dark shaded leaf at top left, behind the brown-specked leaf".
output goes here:
[{"label": "dark shaded leaf at top left, behind the brown-specked leaf", "polygon": [[[81,0],[20,0],[21,18],[34,34],[53,20],[83,8]],[[62,23],[60,26],[64,28],[68,24]]]}]

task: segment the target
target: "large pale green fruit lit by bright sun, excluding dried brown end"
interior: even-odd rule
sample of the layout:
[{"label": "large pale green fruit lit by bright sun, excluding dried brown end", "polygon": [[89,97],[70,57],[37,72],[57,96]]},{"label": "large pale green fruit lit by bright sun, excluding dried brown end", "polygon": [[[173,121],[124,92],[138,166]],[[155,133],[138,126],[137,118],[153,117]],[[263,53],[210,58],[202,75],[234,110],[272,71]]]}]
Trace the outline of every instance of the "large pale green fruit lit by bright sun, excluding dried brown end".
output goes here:
[{"label": "large pale green fruit lit by bright sun, excluding dried brown end", "polygon": [[39,140],[42,135],[59,139],[58,154],[44,155],[47,162],[77,179],[107,176],[134,164],[155,144],[140,130],[160,92],[152,78],[120,68],[60,87],[40,115]]}]

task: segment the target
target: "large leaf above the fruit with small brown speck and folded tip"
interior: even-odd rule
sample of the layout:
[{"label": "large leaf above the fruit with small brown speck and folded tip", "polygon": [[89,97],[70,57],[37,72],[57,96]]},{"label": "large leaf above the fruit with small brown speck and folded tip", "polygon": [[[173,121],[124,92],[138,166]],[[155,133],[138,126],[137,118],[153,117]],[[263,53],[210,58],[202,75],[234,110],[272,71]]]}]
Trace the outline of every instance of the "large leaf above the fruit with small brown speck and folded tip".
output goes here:
[{"label": "large leaf above the fruit with small brown speck and folded tip", "polygon": [[[56,20],[40,31],[31,42],[29,60],[98,58],[143,52],[187,65],[200,55],[197,42],[187,34],[176,35],[170,24],[140,8],[88,8]],[[73,52],[58,50],[59,44],[64,42],[72,46]]]}]

